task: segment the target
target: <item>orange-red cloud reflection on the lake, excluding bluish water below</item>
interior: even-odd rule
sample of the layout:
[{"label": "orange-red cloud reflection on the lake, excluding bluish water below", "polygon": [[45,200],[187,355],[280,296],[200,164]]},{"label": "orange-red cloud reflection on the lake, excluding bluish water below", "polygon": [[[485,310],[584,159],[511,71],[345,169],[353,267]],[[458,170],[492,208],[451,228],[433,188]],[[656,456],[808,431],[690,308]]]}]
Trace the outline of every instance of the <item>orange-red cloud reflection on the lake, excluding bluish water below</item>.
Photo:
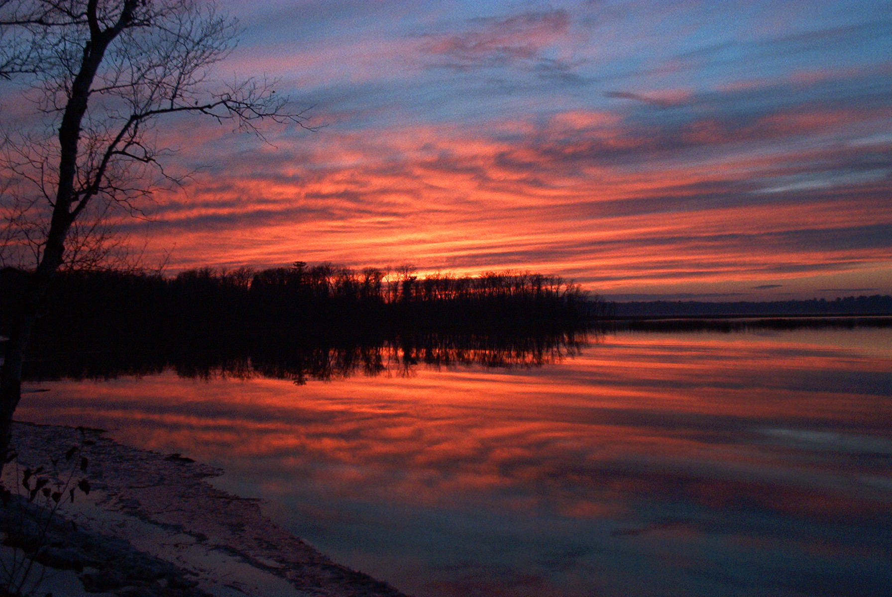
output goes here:
[{"label": "orange-red cloud reflection on the lake, excluding bluish water below", "polygon": [[857,462],[843,472],[838,462],[793,463],[790,451],[882,448],[877,434],[892,421],[888,392],[875,391],[888,383],[889,332],[851,332],[870,339],[862,352],[828,346],[822,333],[625,334],[541,369],[418,366],[304,386],[171,372],[59,382],[23,401],[20,416],[86,422],[227,470],[260,466],[273,492],[300,478],[342,499],[483,500],[572,516],[663,493],[806,515],[838,503],[790,492],[871,501],[882,483],[859,480],[870,475]]}]

